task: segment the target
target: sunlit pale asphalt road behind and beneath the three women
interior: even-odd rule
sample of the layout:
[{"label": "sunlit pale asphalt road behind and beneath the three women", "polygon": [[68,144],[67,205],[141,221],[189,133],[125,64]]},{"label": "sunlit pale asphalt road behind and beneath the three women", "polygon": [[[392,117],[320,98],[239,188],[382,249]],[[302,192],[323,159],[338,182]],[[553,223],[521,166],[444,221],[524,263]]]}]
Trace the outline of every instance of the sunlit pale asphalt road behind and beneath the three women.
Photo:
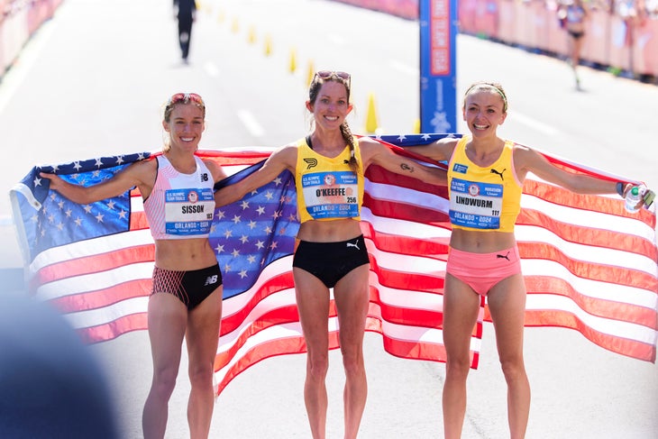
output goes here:
[{"label": "sunlit pale asphalt road behind and beneath the three women", "polygon": [[[324,0],[206,0],[189,65],[180,62],[175,26],[170,2],[66,0],[3,78],[0,268],[22,266],[6,197],[15,182],[38,163],[159,150],[161,105],[178,91],[206,100],[206,149],[276,146],[306,133],[309,69],[352,73],[355,133],[363,133],[370,94],[383,132],[411,133],[418,118],[415,22]],[[558,59],[464,35],[457,50],[458,96],[479,79],[506,88],[503,135],[658,187],[658,87],[583,69],[579,92]],[[528,328],[525,337],[533,389],[527,437],[658,437],[655,364],[606,352],[570,330]],[[383,353],[379,335],[366,340],[370,392],[361,437],[442,437],[443,364],[400,360]],[[140,437],[151,381],[146,333],[92,350],[113,383],[124,437]],[[340,354],[332,352],[330,361],[327,429],[338,438]],[[184,360],[169,438],[187,437],[186,370]],[[211,436],[308,437],[304,370],[304,356],[292,355],[242,373],[216,401]],[[489,324],[468,386],[464,437],[506,437],[505,382]]]}]

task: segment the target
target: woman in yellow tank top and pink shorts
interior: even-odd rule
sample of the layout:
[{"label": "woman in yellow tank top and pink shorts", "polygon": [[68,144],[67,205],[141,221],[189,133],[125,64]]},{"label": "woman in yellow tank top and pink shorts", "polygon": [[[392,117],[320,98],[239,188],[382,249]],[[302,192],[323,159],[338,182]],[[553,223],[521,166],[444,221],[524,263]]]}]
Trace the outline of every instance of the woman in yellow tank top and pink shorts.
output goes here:
[{"label": "woman in yellow tank top and pink shorts", "polygon": [[[414,152],[447,160],[452,233],[443,291],[443,429],[446,439],[462,435],[471,332],[480,296],[486,296],[507,381],[511,438],[522,438],[530,409],[530,385],[523,358],[525,284],[514,222],[528,172],[580,194],[626,194],[631,185],[575,175],[525,146],[498,137],[507,117],[507,96],[495,83],[468,88],[462,109],[470,136],[444,138]],[[647,191],[644,199],[653,197]]]}]

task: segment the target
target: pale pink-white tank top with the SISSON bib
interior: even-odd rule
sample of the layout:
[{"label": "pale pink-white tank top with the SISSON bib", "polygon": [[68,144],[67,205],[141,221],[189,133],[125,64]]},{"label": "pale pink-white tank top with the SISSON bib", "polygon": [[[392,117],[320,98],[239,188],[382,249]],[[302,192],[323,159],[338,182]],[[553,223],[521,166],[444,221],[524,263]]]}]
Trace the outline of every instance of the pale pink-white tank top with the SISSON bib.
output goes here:
[{"label": "pale pink-white tank top with the SISSON bib", "polygon": [[195,157],[196,171],[178,172],[158,156],[158,174],[144,201],[153,239],[206,238],[215,215],[215,181],[203,160]]}]

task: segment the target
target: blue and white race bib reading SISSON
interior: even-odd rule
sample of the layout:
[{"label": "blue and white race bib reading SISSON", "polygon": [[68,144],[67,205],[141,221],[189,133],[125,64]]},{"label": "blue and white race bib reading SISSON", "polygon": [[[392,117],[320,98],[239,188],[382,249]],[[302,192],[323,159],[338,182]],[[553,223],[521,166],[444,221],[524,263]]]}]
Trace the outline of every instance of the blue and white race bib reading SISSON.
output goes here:
[{"label": "blue and white race bib reading SISSON", "polygon": [[215,215],[213,189],[169,189],[165,192],[165,232],[175,235],[210,233]]}]

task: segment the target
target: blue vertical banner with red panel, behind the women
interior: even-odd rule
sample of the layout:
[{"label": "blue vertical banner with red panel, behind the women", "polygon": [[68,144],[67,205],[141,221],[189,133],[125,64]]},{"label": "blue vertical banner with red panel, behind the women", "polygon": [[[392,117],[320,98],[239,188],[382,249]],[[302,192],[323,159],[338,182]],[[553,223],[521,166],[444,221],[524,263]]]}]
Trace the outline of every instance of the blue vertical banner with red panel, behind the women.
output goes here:
[{"label": "blue vertical banner with red panel, behind the women", "polygon": [[457,129],[457,0],[420,0],[420,131]]}]

